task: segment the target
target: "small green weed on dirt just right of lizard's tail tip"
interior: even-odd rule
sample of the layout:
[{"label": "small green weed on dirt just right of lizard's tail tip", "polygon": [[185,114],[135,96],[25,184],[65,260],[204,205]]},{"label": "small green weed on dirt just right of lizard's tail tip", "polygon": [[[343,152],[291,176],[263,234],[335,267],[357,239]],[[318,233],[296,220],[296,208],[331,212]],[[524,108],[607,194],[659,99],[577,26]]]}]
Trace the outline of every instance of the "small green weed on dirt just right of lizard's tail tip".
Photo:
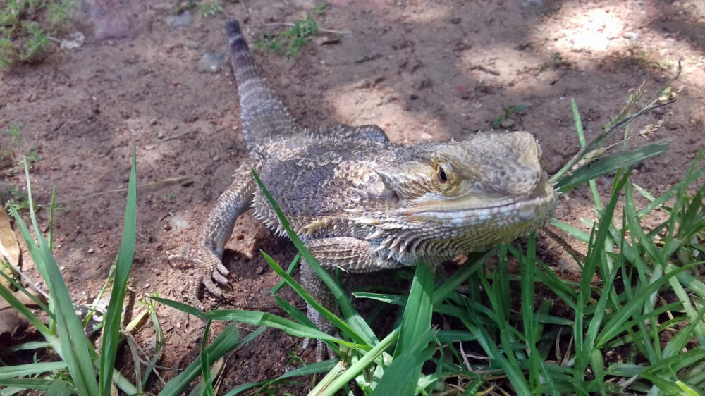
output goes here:
[{"label": "small green weed on dirt just right of lizard's tail tip", "polygon": [[325,10],[325,6],[320,4],[314,11],[307,13],[306,18],[298,20],[288,30],[272,33],[264,32],[262,39],[255,43],[255,50],[266,50],[286,56],[297,56],[302,47],[308,44],[309,37],[318,31],[318,23],[314,20],[314,15],[320,15]]}]

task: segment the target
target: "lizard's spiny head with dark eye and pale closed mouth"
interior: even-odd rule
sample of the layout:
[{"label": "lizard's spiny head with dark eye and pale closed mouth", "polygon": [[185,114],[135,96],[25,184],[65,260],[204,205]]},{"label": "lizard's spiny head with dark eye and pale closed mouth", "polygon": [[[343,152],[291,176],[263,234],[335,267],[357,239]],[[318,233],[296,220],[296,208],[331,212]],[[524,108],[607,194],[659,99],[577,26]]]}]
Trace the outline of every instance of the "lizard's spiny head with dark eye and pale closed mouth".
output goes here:
[{"label": "lizard's spiny head with dark eye and pale closed mouth", "polygon": [[530,233],[553,216],[556,204],[541,149],[528,132],[419,144],[374,171],[391,197],[380,227],[417,224],[470,235],[465,245],[472,250]]}]

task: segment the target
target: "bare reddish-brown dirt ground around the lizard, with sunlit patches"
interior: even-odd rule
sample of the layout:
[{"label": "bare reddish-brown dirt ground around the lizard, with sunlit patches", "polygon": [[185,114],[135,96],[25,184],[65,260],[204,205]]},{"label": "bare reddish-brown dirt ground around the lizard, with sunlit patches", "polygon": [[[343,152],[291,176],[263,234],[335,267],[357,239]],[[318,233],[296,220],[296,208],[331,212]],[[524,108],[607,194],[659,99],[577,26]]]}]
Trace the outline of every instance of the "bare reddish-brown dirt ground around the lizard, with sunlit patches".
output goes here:
[{"label": "bare reddish-brown dirt ground around the lizard, with sunlit patches", "polygon": [[[0,147],[11,147],[18,157],[37,150],[30,173],[37,203],[49,204],[56,187],[55,254],[75,302],[92,302],[117,255],[125,194],[115,190],[127,186],[133,147],[138,184],[145,187],[138,193],[128,312],[134,314],[134,303],[154,292],[183,300],[192,271],[169,266],[166,257],[200,240],[209,210],[247,155],[231,71],[204,73],[199,61],[206,52],[226,52],[226,17],[243,21],[254,43],[265,31],[283,29],[281,23],[305,18],[317,4],[228,1],[224,13],[202,17],[192,11],[190,23],[173,26],[174,1],[85,0],[56,38],[78,30],[86,44],[0,72],[0,129],[21,123],[18,143],[0,134]],[[304,125],[374,123],[395,142],[460,140],[489,130],[503,106],[523,105],[498,129],[533,132],[554,173],[578,147],[570,98],[593,136],[618,114],[630,89],[646,81],[654,93],[680,58],[683,72],[675,87],[685,90],[666,109],[673,112],[668,127],[647,138],[671,140],[670,151],[639,165],[634,180],[665,191],[705,142],[703,1],[325,4],[314,18],[326,31],[298,56],[256,54]],[[661,116],[649,114],[635,128]],[[0,182],[24,186],[24,173],[6,166]],[[587,190],[575,190],[560,199],[556,216],[584,228],[579,219],[594,218],[590,207]],[[47,225],[48,211],[39,211],[39,217]],[[259,249],[288,264],[293,247],[245,215],[228,249],[232,290],[224,303],[274,307],[269,288],[278,278]],[[27,257],[23,266],[36,280]],[[197,356],[204,323],[168,307],[159,316],[167,340],[159,364],[183,368]],[[150,326],[137,334],[146,349],[152,340]],[[221,390],[280,375],[299,342],[266,331],[228,359]],[[163,371],[166,379],[174,375]],[[156,381],[150,386],[152,392],[161,388]]]}]

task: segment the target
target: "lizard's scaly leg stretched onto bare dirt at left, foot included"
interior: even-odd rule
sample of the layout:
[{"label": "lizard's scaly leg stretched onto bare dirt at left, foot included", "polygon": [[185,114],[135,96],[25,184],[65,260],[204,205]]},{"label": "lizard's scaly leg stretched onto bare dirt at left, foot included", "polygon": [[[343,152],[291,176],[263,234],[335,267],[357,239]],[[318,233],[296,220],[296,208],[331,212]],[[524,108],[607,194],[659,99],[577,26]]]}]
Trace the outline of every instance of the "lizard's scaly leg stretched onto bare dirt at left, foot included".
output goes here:
[{"label": "lizard's scaly leg stretched onto bare dirt at left, foot included", "polygon": [[203,310],[198,299],[198,291],[204,285],[212,295],[221,297],[223,292],[213,280],[221,285],[228,284],[228,269],[223,266],[222,257],[225,245],[233,234],[235,220],[252,204],[255,181],[252,178],[250,163],[243,163],[233,176],[233,183],[223,192],[211,210],[203,232],[201,245],[186,259],[194,267],[194,278],[188,285],[188,302]]}]

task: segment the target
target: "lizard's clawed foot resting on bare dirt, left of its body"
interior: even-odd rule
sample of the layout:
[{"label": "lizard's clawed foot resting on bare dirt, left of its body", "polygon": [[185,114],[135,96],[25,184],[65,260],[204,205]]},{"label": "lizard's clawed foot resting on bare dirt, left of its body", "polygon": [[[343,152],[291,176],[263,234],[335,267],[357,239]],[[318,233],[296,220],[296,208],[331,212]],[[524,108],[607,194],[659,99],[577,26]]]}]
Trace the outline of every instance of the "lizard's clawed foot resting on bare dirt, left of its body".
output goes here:
[{"label": "lizard's clawed foot resting on bare dirt, left of its body", "polygon": [[216,297],[223,296],[221,286],[213,282],[215,280],[220,285],[228,285],[228,269],[223,266],[219,256],[216,256],[204,245],[199,245],[185,252],[183,255],[171,255],[168,261],[188,264],[194,268],[194,278],[189,280],[188,295],[186,297],[189,304],[204,310],[202,302],[198,299],[198,291],[203,285],[209,293]]}]

